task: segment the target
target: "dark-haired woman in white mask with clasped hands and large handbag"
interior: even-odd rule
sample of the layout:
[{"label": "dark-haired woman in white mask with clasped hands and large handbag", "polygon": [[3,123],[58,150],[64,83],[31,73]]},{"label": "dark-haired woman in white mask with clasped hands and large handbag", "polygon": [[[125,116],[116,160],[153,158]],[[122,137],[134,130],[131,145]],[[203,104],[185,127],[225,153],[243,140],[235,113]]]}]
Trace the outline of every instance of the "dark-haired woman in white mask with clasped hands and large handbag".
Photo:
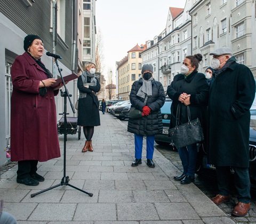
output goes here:
[{"label": "dark-haired woman in white mask with clasped hands and large handbag", "polygon": [[[187,56],[181,66],[181,74],[174,76],[173,82],[167,87],[167,94],[173,100],[171,106],[170,128],[175,127],[177,107],[180,107],[180,124],[188,121],[187,106],[190,109],[191,120],[199,118],[203,131],[206,130],[207,101],[209,84],[205,75],[198,73],[198,63],[202,61],[201,54]],[[186,138],[186,136],[184,137]],[[174,177],[181,184],[195,181],[197,144],[179,148],[183,173]]]}]

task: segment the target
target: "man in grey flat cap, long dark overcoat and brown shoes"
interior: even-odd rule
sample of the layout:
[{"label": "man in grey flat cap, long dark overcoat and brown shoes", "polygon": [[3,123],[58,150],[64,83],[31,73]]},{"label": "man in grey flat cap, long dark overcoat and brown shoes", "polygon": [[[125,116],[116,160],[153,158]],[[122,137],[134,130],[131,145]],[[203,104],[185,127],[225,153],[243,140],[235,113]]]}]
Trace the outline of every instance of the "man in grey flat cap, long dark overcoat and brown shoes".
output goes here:
[{"label": "man in grey flat cap, long dark overcoat and brown shoes", "polygon": [[234,185],[238,203],[232,214],[242,217],[250,209],[249,135],[250,108],[255,97],[251,70],[236,62],[228,47],[213,55],[214,77],[209,96],[208,163],[216,167],[219,194],[212,201],[219,205],[231,197],[230,167],[235,171]]}]

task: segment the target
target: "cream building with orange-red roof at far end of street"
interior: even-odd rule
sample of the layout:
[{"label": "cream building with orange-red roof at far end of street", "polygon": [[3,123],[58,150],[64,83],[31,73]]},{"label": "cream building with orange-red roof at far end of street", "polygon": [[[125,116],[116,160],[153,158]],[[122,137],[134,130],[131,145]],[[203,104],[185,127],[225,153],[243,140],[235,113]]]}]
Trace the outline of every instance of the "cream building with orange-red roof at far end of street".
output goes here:
[{"label": "cream building with orange-red roof at far end of street", "polygon": [[141,52],[146,49],[145,45],[134,46],[128,51],[127,56],[117,62],[117,86],[118,99],[129,100],[131,87],[134,81],[141,77]]}]

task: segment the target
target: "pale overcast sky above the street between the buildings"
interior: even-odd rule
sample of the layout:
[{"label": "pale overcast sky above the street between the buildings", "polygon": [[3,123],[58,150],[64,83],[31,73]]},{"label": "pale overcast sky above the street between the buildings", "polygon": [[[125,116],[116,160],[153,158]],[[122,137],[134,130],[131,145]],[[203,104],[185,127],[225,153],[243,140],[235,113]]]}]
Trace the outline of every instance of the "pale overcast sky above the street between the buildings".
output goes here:
[{"label": "pale overcast sky above the street between the buildings", "polygon": [[135,45],[145,44],[165,29],[169,7],[184,8],[186,0],[97,0],[96,27],[103,46],[103,75]]}]

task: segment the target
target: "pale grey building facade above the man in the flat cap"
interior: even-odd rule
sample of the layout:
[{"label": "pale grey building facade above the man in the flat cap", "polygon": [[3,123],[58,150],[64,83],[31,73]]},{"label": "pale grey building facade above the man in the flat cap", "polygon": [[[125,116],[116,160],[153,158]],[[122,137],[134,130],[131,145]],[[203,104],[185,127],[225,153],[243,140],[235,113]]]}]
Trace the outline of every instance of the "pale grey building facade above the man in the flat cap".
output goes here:
[{"label": "pale grey building facade above the man in the flat cap", "polygon": [[238,63],[249,67],[256,76],[255,1],[197,1],[190,14],[193,53],[203,55],[201,72],[210,66],[209,53],[225,46],[232,49]]}]

